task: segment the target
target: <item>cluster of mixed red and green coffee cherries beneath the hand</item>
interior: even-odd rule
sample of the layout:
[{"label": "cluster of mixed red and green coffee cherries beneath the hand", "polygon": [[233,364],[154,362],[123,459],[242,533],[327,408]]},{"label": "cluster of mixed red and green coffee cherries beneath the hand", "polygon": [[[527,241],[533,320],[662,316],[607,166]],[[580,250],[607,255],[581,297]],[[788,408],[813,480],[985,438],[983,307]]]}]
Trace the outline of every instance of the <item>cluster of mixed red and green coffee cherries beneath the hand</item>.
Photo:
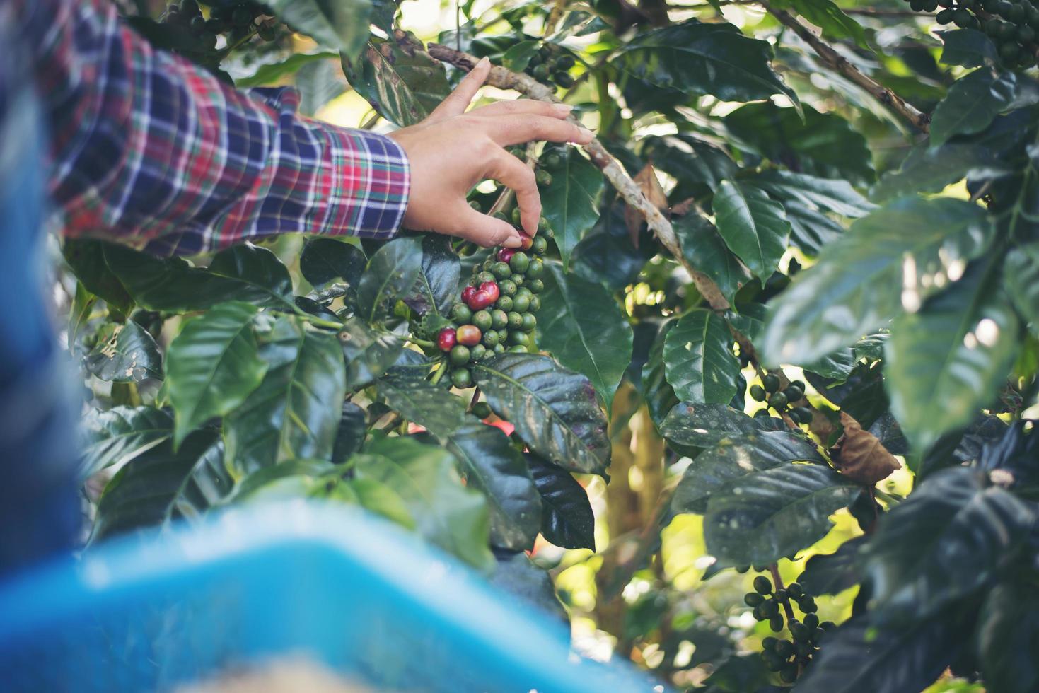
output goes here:
[{"label": "cluster of mixed red and green coffee cherries beneath the hand", "polygon": [[436,346],[451,364],[451,384],[470,388],[469,366],[494,354],[534,350],[534,314],[544,290],[544,255],[549,242],[521,232],[518,249],[498,247],[473,268],[473,277],[451,309],[452,325],[436,336]]}]

